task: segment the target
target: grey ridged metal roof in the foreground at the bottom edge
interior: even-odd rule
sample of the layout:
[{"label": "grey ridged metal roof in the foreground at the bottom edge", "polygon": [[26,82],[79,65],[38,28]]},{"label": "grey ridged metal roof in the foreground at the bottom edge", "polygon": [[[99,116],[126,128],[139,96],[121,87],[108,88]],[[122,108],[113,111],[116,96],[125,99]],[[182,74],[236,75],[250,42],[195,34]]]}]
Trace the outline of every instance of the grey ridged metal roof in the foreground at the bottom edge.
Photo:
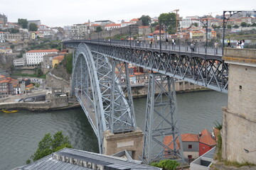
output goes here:
[{"label": "grey ridged metal roof in the foreground at the bottom edge", "polygon": [[[74,163],[70,164],[69,162],[65,162],[65,159],[72,160]],[[75,164],[77,162],[77,164]],[[82,166],[82,162],[88,162],[91,164],[96,164],[99,166],[104,166],[105,169],[149,169],[149,170],[160,170],[160,168],[148,166],[144,164],[138,164],[137,162],[133,162],[132,160],[127,161],[127,159],[122,159],[119,157],[107,156],[104,154],[96,154],[92,152],[86,152],[78,149],[69,149],[64,148],[58,152],[54,152],[42,159],[39,159],[32,164],[28,164],[26,166],[22,166],[16,168],[18,170],[29,170],[29,169],[85,169],[91,170],[85,166]],[[80,165],[79,165],[80,164]]]}]

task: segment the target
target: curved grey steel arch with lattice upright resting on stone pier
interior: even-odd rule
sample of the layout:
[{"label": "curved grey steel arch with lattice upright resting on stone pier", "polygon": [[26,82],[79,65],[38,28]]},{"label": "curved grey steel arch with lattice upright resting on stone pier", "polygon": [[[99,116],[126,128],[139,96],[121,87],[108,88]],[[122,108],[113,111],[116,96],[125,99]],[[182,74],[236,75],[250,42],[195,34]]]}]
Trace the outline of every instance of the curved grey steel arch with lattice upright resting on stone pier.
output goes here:
[{"label": "curved grey steel arch with lattice upright resting on stone pier", "polygon": [[110,62],[105,55],[92,52],[84,43],[76,47],[72,91],[97,135],[100,153],[104,147],[102,134],[105,130],[127,132],[136,127],[129,81],[125,81],[126,86],[122,87],[119,80],[120,77],[127,80],[128,69],[123,69],[122,74],[126,77],[122,74],[116,76],[113,72],[116,65],[127,67],[127,64],[116,63],[116,60]]}]

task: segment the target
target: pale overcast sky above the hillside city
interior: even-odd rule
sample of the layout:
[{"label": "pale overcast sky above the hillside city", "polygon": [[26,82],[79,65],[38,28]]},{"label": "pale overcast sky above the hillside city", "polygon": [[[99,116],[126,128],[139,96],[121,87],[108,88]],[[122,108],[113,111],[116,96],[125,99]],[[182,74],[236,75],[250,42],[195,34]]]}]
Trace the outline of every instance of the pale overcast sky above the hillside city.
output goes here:
[{"label": "pale overcast sky above the hillside city", "polygon": [[0,13],[9,22],[41,20],[46,26],[72,26],[97,20],[129,21],[142,15],[159,16],[179,9],[180,16],[221,14],[228,10],[256,10],[255,0],[1,0]]}]

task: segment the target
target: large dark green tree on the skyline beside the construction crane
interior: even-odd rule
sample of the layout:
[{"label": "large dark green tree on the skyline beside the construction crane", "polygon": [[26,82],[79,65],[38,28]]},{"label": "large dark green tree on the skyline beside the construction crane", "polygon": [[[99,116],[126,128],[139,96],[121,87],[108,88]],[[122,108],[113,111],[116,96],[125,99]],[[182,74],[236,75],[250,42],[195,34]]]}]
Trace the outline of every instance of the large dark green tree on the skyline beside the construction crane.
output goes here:
[{"label": "large dark green tree on the skyline beside the construction crane", "polygon": [[176,13],[161,13],[159,16],[159,24],[162,23],[166,26],[169,33],[176,33]]}]

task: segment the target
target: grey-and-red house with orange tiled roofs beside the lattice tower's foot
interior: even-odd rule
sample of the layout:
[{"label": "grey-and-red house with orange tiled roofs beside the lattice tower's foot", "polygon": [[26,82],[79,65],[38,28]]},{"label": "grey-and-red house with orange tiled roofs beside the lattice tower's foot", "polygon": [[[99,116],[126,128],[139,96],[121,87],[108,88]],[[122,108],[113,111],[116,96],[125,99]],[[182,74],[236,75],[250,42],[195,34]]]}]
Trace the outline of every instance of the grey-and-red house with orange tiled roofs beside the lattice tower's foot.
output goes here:
[{"label": "grey-and-red house with orange tiled roofs beside the lattice tower's foot", "polygon": [[[200,132],[199,135],[191,133],[181,134],[181,141],[183,147],[183,157],[187,159],[196,159],[216,145],[214,137],[206,129]],[[176,138],[176,144],[176,149],[178,150],[181,147],[178,138]],[[174,150],[174,141],[172,135],[164,137],[164,145]],[[165,157],[168,158],[170,154],[171,152],[169,152],[169,149],[165,149]]]}]

